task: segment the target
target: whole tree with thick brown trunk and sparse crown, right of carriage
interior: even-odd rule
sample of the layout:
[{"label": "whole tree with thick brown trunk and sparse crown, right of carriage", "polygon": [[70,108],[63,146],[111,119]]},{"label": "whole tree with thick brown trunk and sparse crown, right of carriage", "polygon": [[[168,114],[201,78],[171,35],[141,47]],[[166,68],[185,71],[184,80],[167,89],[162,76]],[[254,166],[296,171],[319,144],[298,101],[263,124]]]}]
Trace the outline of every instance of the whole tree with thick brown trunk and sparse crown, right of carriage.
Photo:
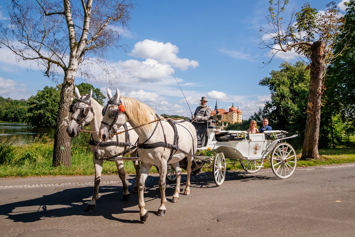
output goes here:
[{"label": "whole tree with thick brown trunk and sparse crown, right of carriage", "polygon": [[[343,51],[334,54],[334,47],[342,42],[339,34],[346,31],[344,19],[339,17],[335,2],[327,4],[324,13],[306,3],[301,11],[293,10],[285,25],[283,15],[288,0],[270,1],[267,27],[260,28],[261,48],[272,49],[273,57],[280,52],[294,50],[301,59],[309,61],[310,89],[307,102],[307,120],[301,159],[319,159],[318,137],[320,131],[322,95],[327,66]],[[345,44],[345,48],[346,48]]]}]

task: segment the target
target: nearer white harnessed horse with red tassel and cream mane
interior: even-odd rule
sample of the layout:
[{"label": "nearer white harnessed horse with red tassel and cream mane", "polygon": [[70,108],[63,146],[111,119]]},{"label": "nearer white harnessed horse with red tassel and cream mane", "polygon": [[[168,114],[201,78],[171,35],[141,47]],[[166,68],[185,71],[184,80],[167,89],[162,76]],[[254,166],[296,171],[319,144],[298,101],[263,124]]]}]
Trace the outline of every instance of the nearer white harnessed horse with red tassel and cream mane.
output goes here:
[{"label": "nearer white harnessed horse with red tassel and cream mane", "polygon": [[[109,98],[111,91],[107,89]],[[120,128],[129,122],[139,136],[138,154],[141,162],[141,175],[138,181],[138,206],[140,208],[140,218],[144,222],[148,219],[148,211],[144,203],[144,185],[149,171],[153,165],[159,168],[159,189],[161,193],[161,203],[157,212],[158,216],[165,214],[165,178],[167,163],[173,164],[176,171],[176,189],[172,202],[179,200],[181,169],[179,161],[187,156],[187,181],[185,195],[190,194],[190,174],[191,164],[197,149],[196,129],[188,121],[176,122],[174,125],[166,119],[161,119],[155,114],[153,108],[146,104],[128,97],[120,97],[120,92],[116,88],[116,94],[110,99],[107,105],[107,112],[104,114],[99,130],[99,137],[107,140],[113,124]],[[158,119],[160,118],[160,119]],[[144,125],[146,124],[146,125]],[[176,130],[176,133],[174,132]],[[176,136],[178,135],[178,136]],[[178,140],[176,142],[176,140]],[[171,148],[173,147],[173,149]],[[176,149],[178,148],[178,149]]]}]

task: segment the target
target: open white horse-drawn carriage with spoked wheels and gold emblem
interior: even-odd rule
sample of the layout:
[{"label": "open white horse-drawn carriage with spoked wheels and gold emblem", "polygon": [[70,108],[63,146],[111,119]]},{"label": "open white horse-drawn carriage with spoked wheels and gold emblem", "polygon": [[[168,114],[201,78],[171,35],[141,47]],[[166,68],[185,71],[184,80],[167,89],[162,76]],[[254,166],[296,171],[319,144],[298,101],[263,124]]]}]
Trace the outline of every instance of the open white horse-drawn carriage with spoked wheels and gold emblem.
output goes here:
[{"label": "open white horse-drawn carriage with spoked wheels and gold emblem", "polygon": [[[274,174],[281,178],[289,178],[296,169],[295,149],[285,140],[297,135],[287,136],[282,130],[264,131],[249,134],[246,131],[221,131],[207,129],[206,146],[198,148],[195,158],[212,163],[215,183],[222,185],[226,176],[226,164],[240,162],[248,173],[256,173],[263,168],[263,163],[270,156],[270,166]],[[202,150],[209,150],[214,157],[200,156]],[[228,159],[228,160],[227,160]],[[174,169],[168,170],[168,180],[174,180]]]}]

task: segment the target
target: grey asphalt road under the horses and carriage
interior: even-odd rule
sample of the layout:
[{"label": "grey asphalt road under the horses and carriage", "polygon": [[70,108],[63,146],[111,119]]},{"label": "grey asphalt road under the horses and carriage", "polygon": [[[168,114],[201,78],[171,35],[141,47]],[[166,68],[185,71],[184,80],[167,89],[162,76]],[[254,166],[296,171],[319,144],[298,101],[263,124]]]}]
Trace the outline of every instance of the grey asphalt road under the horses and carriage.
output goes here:
[{"label": "grey asphalt road under the horses and carriage", "polygon": [[[186,175],[183,175],[186,178]],[[0,236],[355,236],[355,164],[297,168],[289,179],[271,169],[228,171],[217,187],[211,173],[192,179],[191,194],[156,216],[156,175],[144,194],[149,219],[139,221],[137,194],[122,201],[118,176],[103,176],[96,210],[84,212],[93,176],[0,179]],[[127,176],[130,192],[135,178]],[[183,182],[186,180],[184,179]]]}]

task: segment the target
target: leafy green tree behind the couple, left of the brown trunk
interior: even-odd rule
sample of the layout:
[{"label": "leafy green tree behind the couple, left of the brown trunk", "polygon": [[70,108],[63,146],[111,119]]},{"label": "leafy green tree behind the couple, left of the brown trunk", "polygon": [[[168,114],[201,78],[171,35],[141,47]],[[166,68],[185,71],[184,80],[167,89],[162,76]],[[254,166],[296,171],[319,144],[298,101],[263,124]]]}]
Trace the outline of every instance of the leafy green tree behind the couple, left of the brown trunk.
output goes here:
[{"label": "leafy green tree behind the couple, left of the brown trunk", "polygon": [[271,77],[259,82],[259,85],[269,87],[271,94],[271,101],[266,102],[264,111],[268,111],[266,117],[273,129],[299,134],[296,141],[300,145],[306,126],[310,71],[303,61],[284,62],[279,68],[279,71],[271,71]]}]

